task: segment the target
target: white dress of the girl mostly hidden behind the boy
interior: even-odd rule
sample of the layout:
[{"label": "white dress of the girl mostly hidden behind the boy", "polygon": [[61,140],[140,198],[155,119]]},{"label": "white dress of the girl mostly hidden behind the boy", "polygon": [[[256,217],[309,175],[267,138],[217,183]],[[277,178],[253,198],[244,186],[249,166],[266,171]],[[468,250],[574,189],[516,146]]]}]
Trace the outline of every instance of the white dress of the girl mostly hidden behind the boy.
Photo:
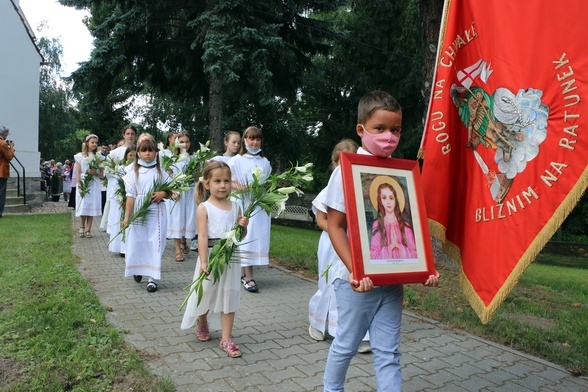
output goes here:
[{"label": "white dress of the girl mostly hidden behind the boy", "polygon": [[[312,210],[315,215],[318,211],[327,213],[327,206],[324,205],[326,188],[323,189],[312,201]],[[337,333],[337,300],[333,289],[334,274],[321,276],[325,270],[337,261],[337,254],[329,239],[329,233],[323,231],[319,239],[318,251],[318,290],[308,303],[308,320],[313,328],[318,329],[323,334],[327,331],[327,321],[329,323],[328,331],[331,336]],[[329,268],[329,272],[332,272]]]}]

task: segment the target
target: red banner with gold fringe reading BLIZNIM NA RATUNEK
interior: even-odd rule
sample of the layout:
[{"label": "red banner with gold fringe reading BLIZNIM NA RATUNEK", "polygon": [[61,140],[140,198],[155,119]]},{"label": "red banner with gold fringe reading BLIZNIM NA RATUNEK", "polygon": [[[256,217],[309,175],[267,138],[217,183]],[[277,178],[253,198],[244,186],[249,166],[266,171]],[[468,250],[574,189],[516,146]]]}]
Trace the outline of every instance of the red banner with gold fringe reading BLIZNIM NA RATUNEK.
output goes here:
[{"label": "red banner with gold fringe reading BLIZNIM NA RATUNEK", "polygon": [[422,147],[431,233],[483,323],[588,183],[585,0],[447,0]]}]

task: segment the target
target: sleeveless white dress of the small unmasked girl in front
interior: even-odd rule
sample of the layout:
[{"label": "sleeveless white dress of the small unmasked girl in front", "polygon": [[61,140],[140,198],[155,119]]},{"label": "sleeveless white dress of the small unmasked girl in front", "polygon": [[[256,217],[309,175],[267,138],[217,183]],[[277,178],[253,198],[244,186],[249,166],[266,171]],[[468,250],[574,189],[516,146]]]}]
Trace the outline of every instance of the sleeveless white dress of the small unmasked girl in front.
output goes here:
[{"label": "sleeveless white dress of the small unmasked girl in front", "polygon": [[[208,201],[203,202],[208,213],[208,238],[220,238],[224,233],[231,230],[237,221],[239,213],[238,204],[232,202],[232,209],[230,211],[221,210],[218,207],[210,204]],[[210,252],[210,249],[208,251]],[[237,253],[240,247],[237,248]],[[200,258],[196,262],[196,269],[194,270],[194,277],[192,281],[196,280],[200,275]],[[182,319],[181,329],[188,329],[196,324],[198,316],[211,311],[213,313],[234,313],[239,308],[239,299],[241,295],[240,290],[240,276],[241,268],[237,254],[233,254],[231,264],[225,270],[221,278],[212,283],[210,280],[204,281],[203,294],[200,305],[198,303],[198,296],[195,292],[188,298],[184,318]]]}]

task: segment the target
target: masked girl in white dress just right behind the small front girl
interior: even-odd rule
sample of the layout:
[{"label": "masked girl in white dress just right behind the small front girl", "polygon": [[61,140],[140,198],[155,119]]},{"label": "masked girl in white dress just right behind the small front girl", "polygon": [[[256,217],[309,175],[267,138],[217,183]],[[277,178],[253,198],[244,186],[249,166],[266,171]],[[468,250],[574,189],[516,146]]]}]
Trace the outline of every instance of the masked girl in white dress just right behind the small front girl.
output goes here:
[{"label": "masked girl in white dress just right behind the small front girl", "polygon": [[[262,135],[257,127],[250,126],[243,132],[240,155],[229,161],[233,173],[233,189],[247,189],[253,181],[253,170],[261,170],[262,180],[271,174],[272,167],[261,151]],[[247,209],[249,201],[245,194],[243,209]],[[257,292],[257,283],[253,279],[253,266],[269,264],[271,217],[261,207],[257,207],[251,215],[251,226],[247,237],[243,239],[241,252],[241,283],[245,290]]]}]

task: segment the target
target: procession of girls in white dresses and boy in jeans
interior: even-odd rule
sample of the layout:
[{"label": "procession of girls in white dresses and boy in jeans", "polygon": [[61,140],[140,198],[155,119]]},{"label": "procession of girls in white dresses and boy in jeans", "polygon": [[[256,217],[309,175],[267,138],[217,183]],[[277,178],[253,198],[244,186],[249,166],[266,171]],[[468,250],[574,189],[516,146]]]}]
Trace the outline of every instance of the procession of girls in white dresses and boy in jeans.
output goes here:
[{"label": "procession of girls in white dresses and boy in jeans", "polygon": [[[389,94],[367,94],[358,107],[356,131],[361,146],[357,153],[390,157],[398,145],[401,121],[400,105]],[[162,257],[167,240],[173,243],[175,262],[184,262],[190,248],[196,249],[194,275],[191,281],[186,277],[190,290],[182,304],[184,317],[179,327],[195,326],[196,340],[206,342],[211,338],[209,319],[220,315],[219,347],[231,358],[241,357],[240,347],[232,340],[240,287],[251,293],[259,291],[253,268],[269,263],[270,211],[255,204],[258,196],[254,192],[272,175],[263,154],[262,132],[250,126],[242,136],[227,133],[225,151],[218,156],[204,145],[196,152],[186,132],[170,132],[165,144],[159,145],[151,135],[137,137],[136,133],[134,127],[126,127],[120,147],[111,151],[102,165],[95,164],[99,160],[98,137],[85,138],[84,148],[75,158],[77,179],[72,183],[79,235],[92,238],[93,218],[101,215],[99,184],[106,178],[107,207],[101,227],[109,235],[109,250],[124,258],[124,276],[133,277],[138,284],[146,282],[146,291],[155,293],[165,279]],[[343,390],[347,367],[358,350],[373,352],[378,390],[400,390],[402,285],[374,286],[369,277],[355,280],[351,273],[337,162],[340,151],[355,152],[357,148],[352,140],[335,147],[333,173],[313,202],[317,223],[323,229],[318,272],[329,268],[330,278],[319,282],[309,303],[309,334],[315,340],[324,340],[327,333],[333,337],[324,372],[325,391]],[[388,183],[374,192],[372,202],[379,215],[373,225],[372,253],[378,241],[378,257],[413,257],[414,252],[408,251],[414,248],[410,222],[398,214],[398,190]],[[73,185],[77,185],[75,191]],[[283,203],[276,203],[278,210],[280,206],[283,208]],[[230,235],[236,244],[231,249],[238,247],[238,251],[219,250],[219,243],[225,244],[227,238],[233,241]],[[219,267],[220,259],[226,260]],[[199,278],[203,283],[198,286]],[[438,283],[437,273],[423,282],[427,286]],[[360,347],[362,341],[365,350]]]}]

